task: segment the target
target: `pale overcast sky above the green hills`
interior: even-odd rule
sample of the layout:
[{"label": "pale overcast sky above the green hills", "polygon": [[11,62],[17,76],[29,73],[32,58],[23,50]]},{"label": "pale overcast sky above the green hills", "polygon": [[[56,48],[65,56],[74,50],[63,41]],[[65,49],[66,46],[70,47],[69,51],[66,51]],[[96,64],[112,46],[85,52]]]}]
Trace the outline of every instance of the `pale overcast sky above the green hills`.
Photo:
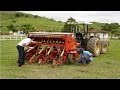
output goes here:
[{"label": "pale overcast sky above the green hills", "polygon": [[119,23],[120,11],[21,11],[28,14],[53,18],[55,20],[66,21],[73,17],[78,22],[101,22],[101,23]]}]

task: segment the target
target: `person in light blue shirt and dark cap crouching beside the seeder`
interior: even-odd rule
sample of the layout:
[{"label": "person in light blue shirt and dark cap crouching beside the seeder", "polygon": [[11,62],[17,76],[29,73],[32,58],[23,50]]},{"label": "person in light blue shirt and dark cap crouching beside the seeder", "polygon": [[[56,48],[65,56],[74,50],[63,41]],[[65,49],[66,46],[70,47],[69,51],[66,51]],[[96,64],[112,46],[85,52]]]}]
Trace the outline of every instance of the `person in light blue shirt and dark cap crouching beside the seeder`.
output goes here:
[{"label": "person in light blue shirt and dark cap crouching beside the seeder", "polygon": [[93,61],[93,54],[89,51],[85,51],[83,48],[80,48],[78,53],[80,54],[80,61],[78,63],[89,64],[91,61]]}]

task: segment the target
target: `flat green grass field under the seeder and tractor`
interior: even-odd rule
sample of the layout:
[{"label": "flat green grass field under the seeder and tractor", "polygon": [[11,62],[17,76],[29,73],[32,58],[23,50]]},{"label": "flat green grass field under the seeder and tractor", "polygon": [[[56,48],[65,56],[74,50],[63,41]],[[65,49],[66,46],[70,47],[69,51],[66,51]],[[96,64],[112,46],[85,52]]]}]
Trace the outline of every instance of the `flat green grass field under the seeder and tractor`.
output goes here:
[{"label": "flat green grass field under the seeder and tractor", "polygon": [[19,41],[0,41],[0,78],[24,79],[105,79],[120,78],[120,40],[111,40],[107,54],[95,57],[87,66],[63,64],[53,68],[51,64],[38,66],[27,64],[20,68],[16,64]]}]

